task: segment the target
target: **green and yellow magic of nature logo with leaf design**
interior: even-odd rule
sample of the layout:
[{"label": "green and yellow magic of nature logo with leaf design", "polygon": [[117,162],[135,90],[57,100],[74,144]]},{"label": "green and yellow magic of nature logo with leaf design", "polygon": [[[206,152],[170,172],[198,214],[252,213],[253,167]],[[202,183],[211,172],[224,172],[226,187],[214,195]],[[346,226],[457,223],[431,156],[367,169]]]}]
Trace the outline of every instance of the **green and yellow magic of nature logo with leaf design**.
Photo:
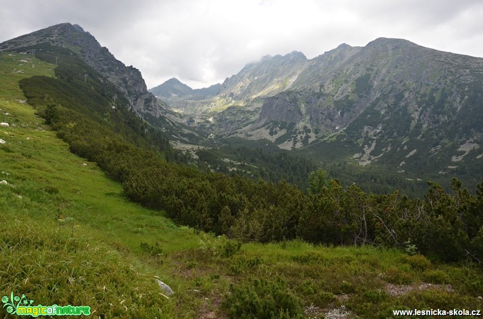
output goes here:
[{"label": "green and yellow magic of nature logo with leaf design", "polygon": [[25,293],[21,296],[14,295],[12,291],[9,296],[2,296],[3,308],[9,314],[30,315],[37,317],[39,315],[90,315],[90,306],[58,306],[56,304],[43,306],[41,304],[32,305],[33,299],[27,298]]}]

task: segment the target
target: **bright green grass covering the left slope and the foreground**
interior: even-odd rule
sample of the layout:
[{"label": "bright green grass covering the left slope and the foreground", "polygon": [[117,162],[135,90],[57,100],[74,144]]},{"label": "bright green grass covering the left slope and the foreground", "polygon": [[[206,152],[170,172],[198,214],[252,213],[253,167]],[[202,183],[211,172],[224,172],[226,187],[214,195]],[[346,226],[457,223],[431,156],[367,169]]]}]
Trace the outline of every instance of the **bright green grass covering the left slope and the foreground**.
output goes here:
[{"label": "bright green grass covering the left slope and the foreground", "polygon": [[[26,293],[35,304],[90,305],[95,317],[227,317],[236,312],[222,306],[230,300],[225,296],[252,291],[263,280],[278,296],[293,295],[302,308],[313,305],[315,315],[342,304],[360,317],[391,316],[399,308],[482,307],[483,274],[472,264],[297,240],[239,247],[128,201],[121,185],[71,154],[22,102],[18,81],[53,76],[54,68],[19,61],[25,57],[31,58],[3,53],[0,61],[0,121],[11,125],[0,129],[6,141],[0,179],[9,183],[0,185],[0,294]],[[175,294],[164,296],[155,278]],[[433,288],[386,291],[389,283],[423,282]]]}]

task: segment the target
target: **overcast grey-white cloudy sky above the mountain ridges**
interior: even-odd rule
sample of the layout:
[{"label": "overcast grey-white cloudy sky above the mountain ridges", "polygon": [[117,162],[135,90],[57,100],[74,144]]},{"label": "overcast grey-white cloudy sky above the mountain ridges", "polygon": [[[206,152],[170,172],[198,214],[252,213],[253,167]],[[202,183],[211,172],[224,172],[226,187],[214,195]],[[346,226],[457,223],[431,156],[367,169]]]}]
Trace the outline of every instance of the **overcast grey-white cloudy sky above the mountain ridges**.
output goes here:
[{"label": "overcast grey-white cloudy sky above the mountain ridges", "polygon": [[266,54],[313,58],[378,37],[483,57],[481,17],[481,0],[0,0],[0,42],[70,22],[149,88],[171,77],[198,88]]}]

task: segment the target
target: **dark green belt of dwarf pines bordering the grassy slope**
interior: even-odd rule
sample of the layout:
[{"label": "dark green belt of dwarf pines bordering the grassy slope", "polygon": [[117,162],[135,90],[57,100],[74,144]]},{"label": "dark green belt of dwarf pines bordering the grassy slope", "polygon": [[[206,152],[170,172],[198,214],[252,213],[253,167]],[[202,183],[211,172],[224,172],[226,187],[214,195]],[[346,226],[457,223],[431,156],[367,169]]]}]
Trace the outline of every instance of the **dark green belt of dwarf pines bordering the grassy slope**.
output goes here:
[{"label": "dark green belt of dwarf pines bordering the grassy slope", "polygon": [[[451,193],[430,183],[424,198],[410,199],[398,191],[368,194],[355,185],[344,189],[321,170],[310,174],[308,191],[285,181],[200,171],[168,162],[142,143],[136,146],[109,124],[73,107],[77,104],[69,94],[56,93],[68,81],[61,74],[33,77],[22,80],[21,87],[72,152],[122,182],[130,199],[165,209],[181,224],[243,241],[301,238],[398,247],[444,261],[465,256],[483,260],[483,183],[475,195],[456,179]],[[88,93],[75,91],[77,107]]]}]

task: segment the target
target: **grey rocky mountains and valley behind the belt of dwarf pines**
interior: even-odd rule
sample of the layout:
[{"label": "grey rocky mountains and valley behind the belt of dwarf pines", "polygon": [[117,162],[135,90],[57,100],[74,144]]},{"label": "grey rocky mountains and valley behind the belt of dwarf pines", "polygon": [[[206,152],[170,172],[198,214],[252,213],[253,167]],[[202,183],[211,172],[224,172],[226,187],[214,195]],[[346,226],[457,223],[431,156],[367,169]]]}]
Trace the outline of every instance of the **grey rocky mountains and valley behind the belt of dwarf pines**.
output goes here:
[{"label": "grey rocky mountains and valley behind the belt of dwarf pines", "polygon": [[[148,91],[139,70],[77,25],[49,27],[0,49],[47,44],[105,76],[128,109],[200,167],[301,186],[322,167],[346,185],[411,195],[427,180],[475,185],[483,175],[482,58],[378,38],[310,60],[295,51],[264,56],[207,88],[172,78]],[[284,156],[303,167],[293,174],[290,165],[273,168]]]}]

